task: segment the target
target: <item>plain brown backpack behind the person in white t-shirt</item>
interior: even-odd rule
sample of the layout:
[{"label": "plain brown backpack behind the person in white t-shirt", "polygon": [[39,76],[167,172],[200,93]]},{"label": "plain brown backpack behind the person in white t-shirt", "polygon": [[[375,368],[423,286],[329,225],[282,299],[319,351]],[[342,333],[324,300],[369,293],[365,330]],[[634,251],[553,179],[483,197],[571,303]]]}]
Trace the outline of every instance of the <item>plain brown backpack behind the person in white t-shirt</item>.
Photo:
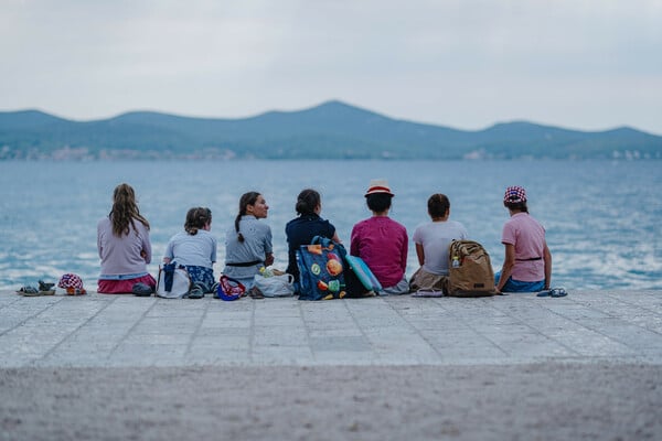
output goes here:
[{"label": "plain brown backpack behind the person in white t-shirt", "polygon": [[494,295],[494,270],[490,255],[477,241],[453,240],[448,248],[448,294],[450,297]]}]

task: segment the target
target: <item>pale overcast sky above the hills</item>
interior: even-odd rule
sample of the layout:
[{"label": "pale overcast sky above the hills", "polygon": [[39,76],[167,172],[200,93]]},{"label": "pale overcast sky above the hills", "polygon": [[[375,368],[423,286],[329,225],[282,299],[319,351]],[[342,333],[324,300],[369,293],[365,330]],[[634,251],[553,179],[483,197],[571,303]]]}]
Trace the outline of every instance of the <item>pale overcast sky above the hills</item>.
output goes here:
[{"label": "pale overcast sky above the hills", "polygon": [[0,0],[0,111],[662,135],[662,0]]}]

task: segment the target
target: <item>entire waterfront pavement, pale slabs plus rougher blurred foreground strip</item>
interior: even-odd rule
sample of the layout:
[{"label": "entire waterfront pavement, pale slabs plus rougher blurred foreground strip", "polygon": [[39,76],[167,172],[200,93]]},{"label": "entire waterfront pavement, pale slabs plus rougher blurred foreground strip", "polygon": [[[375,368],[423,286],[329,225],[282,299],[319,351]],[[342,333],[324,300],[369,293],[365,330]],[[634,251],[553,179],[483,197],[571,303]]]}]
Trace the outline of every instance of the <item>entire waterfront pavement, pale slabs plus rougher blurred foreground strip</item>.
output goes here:
[{"label": "entire waterfront pavement, pale slabs plus rougher blurred foreground strip", "polygon": [[0,293],[0,440],[660,439],[662,292]]}]

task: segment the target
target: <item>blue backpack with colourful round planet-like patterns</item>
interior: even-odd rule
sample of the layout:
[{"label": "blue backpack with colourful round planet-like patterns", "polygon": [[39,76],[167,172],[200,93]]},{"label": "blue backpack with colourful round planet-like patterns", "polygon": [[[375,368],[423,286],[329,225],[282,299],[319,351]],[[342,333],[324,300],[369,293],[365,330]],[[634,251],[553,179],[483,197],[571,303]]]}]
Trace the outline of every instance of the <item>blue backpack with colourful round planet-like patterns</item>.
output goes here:
[{"label": "blue backpack with colourful round planet-like patterns", "polygon": [[312,244],[297,250],[299,300],[331,300],[346,295],[342,244],[314,236]]}]

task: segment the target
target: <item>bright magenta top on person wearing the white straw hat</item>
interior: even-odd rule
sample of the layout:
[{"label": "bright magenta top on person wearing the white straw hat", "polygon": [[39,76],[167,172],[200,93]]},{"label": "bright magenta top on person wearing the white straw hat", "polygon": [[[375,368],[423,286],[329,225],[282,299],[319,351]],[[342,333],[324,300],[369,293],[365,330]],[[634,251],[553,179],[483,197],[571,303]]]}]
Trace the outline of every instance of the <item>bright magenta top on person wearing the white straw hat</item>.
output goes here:
[{"label": "bright magenta top on person wearing the white straw hat", "polygon": [[373,216],[352,228],[350,254],[361,257],[384,288],[396,286],[407,268],[407,229],[387,216]]}]

